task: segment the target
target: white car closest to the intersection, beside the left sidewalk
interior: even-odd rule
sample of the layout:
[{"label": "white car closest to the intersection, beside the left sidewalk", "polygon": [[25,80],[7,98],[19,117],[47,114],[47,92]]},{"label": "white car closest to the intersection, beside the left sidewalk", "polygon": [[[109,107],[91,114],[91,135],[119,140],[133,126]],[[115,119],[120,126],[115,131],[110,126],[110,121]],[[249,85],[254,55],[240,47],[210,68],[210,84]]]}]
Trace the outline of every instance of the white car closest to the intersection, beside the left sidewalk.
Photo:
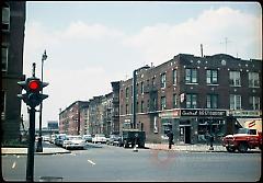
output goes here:
[{"label": "white car closest to the intersection, beside the left sidewalk", "polygon": [[85,140],[81,136],[67,136],[62,147],[66,149],[84,149]]}]

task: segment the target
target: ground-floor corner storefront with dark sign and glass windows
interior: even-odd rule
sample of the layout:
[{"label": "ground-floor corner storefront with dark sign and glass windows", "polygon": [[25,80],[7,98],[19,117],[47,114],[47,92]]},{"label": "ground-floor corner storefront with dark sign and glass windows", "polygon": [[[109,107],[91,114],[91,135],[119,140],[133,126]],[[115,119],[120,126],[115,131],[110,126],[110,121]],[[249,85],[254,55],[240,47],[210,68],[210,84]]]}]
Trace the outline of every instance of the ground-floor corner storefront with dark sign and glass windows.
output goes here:
[{"label": "ground-floor corner storefront with dark sign and glass windows", "polygon": [[174,110],[159,114],[161,136],[168,129],[174,134],[176,144],[205,144],[213,135],[219,140],[227,130],[227,111],[224,110]]}]

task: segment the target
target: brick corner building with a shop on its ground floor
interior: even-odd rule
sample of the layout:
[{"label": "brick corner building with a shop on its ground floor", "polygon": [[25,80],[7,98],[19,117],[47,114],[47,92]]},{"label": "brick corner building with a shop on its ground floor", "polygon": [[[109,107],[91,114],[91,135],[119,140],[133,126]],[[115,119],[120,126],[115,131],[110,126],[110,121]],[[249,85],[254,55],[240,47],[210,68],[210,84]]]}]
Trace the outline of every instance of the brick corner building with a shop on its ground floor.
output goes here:
[{"label": "brick corner building with a shop on its ground floor", "polygon": [[137,69],[136,78],[136,124],[133,78],[119,82],[119,130],[145,130],[148,141],[162,141],[169,129],[175,142],[202,142],[207,133],[219,139],[240,118],[262,117],[262,60],[179,54]]}]

